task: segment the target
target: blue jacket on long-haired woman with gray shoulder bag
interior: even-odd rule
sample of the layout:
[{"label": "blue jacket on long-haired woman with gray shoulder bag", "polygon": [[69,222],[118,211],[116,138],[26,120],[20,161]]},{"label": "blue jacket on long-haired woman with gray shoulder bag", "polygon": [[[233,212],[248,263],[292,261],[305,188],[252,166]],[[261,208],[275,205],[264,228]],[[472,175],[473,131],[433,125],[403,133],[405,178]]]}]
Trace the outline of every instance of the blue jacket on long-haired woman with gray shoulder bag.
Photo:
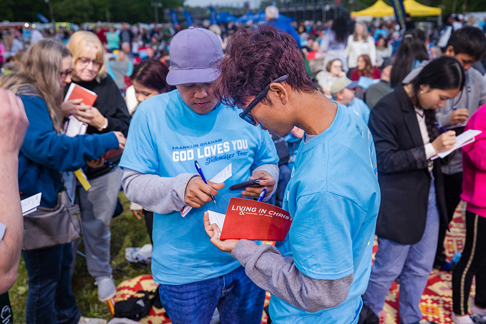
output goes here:
[{"label": "blue jacket on long-haired woman with gray shoulder bag", "polygon": [[30,126],[19,153],[21,199],[42,192],[41,206],[54,208],[63,189],[60,171],[75,171],[88,159],[97,159],[118,148],[113,132],[68,137],[54,130],[46,102],[40,97],[20,96]]}]

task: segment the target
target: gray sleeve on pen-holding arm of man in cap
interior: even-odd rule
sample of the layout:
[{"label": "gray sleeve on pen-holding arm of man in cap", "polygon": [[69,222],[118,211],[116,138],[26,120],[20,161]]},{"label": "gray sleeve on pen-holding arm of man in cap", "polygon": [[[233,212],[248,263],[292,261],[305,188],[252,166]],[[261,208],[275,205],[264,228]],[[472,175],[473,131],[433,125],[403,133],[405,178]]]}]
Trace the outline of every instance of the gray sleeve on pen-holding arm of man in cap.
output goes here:
[{"label": "gray sleeve on pen-holding arm of man in cap", "polygon": [[182,173],[166,178],[125,168],[121,185],[130,201],[154,213],[169,214],[184,208],[187,183],[195,176],[197,174]]}]

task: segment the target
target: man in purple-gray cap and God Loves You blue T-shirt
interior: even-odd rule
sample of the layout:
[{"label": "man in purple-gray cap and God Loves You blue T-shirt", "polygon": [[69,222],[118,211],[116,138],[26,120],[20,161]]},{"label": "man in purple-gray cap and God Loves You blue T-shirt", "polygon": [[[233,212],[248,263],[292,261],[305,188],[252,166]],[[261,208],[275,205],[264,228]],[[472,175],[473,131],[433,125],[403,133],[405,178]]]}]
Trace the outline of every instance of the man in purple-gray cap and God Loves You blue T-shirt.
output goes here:
[{"label": "man in purple-gray cap and God Loves You blue T-shirt", "polygon": [[[209,30],[190,27],[174,36],[167,82],[177,90],[140,104],[120,161],[125,195],[154,212],[152,274],[174,324],[209,324],[216,307],[223,323],[256,324],[262,316],[265,291],[201,226],[205,211],[225,213],[231,197],[257,197],[264,187],[270,197],[278,179],[269,133],[213,95],[222,57],[221,42]],[[225,170],[230,177],[218,182],[226,185],[206,184],[196,160],[207,179]],[[264,179],[264,187],[229,191],[249,179]]]}]

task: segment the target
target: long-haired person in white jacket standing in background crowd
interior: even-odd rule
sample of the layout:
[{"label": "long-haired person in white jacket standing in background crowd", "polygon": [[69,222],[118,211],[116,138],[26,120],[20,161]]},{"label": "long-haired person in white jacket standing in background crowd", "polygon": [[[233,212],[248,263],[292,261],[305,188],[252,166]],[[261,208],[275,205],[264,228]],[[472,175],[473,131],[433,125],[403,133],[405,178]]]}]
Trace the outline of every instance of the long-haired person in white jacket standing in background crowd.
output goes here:
[{"label": "long-haired person in white jacket standing in background crowd", "polygon": [[348,57],[349,69],[354,69],[358,65],[358,57],[368,54],[373,66],[376,65],[375,39],[368,33],[365,24],[357,22],[354,25],[354,32],[349,35],[346,45],[346,56]]}]

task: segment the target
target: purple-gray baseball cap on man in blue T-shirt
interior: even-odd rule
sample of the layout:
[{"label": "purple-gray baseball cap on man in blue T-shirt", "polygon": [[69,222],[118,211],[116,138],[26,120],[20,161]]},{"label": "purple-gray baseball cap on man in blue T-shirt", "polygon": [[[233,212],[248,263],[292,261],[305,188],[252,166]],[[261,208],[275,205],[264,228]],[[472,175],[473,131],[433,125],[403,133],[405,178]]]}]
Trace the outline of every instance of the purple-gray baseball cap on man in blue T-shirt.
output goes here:
[{"label": "purple-gray baseball cap on man in blue T-shirt", "polygon": [[209,83],[219,77],[216,65],[223,58],[218,36],[204,28],[189,27],[172,38],[169,50],[171,70],[167,83]]}]

